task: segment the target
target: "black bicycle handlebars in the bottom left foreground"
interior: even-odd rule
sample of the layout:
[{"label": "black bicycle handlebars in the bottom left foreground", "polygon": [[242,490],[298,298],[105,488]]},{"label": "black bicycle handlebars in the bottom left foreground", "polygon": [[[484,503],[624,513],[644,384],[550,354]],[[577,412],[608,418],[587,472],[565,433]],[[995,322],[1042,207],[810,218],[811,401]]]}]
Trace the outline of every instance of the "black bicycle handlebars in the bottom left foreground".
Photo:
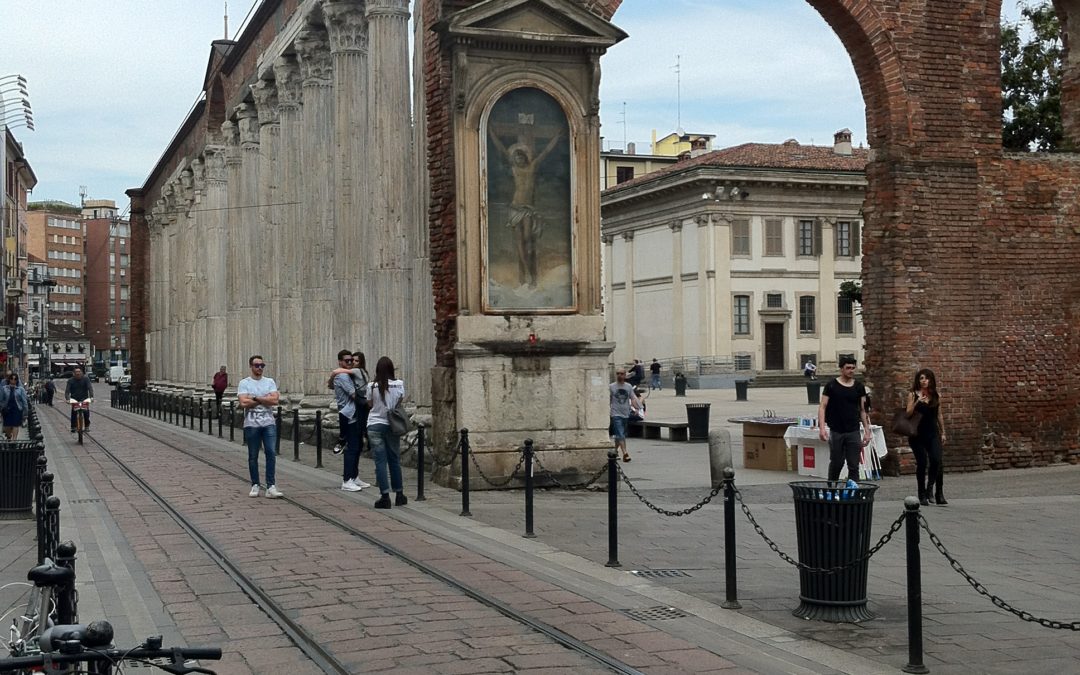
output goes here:
[{"label": "black bicycle handlebars in the bottom left foreground", "polygon": [[[87,625],[55,625],[41,636],[41,653],[0,659],[0,673],[120,675],[126,663],[136,666],[151,665],[173,675],[188,673],[216,675],[210,669],[191,665],[190,661],[220,660],[220,648],[162,648],[161,643],[161,636],[154,635],[137,647],[117,649],[112,646],[112,625],[108,621],[94,621]],[[161,660],[166,662],[160,663]],[[79,669],[80,663],[85,667]]]}]

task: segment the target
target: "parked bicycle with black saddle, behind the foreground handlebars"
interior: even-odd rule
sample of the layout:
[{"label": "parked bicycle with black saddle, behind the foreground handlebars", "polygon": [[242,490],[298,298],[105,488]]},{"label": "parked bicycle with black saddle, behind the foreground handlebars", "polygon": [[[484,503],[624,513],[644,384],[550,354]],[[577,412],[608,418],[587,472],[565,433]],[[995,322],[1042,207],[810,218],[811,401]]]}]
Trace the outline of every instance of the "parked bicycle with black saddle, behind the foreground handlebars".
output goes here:
[{"label": "parked bicycle with black saddle, behind the foreground handlebars", "polygon": [[45,558],[26,577],[32,586],[26,610],[12,619],[9,629],[6,648],[12,657],[40,653],[41,637],[51,626],[75,621],[73,569]]}]

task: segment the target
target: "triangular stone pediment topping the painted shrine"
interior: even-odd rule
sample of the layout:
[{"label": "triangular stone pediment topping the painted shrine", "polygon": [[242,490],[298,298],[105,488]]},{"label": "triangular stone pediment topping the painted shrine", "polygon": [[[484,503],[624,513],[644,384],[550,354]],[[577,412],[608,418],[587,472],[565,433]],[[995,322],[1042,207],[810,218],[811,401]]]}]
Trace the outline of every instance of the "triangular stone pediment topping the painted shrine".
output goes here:
[{"label": "triangular stone pediment topping the painted shrine", "polygon": [[571,0],[486,0],[450,15],[449,35],[495,41],[610,46],[626,33]]}]

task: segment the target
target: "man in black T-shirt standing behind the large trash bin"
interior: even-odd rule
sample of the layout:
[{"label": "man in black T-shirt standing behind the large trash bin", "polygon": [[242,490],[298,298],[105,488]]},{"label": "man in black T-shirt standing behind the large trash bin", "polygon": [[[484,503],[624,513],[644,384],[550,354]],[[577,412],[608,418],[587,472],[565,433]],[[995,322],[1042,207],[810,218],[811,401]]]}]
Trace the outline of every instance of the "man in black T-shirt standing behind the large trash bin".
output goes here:
[{"label": "man in black T-shirt standing behind the large trash bin", "polygon": [[859,457],[870,442],[870,418],[866,388],[855,381],[855,360],[851,356],[840,356],[840,377],[825,384],[818,406],[818,429],[821,440],[828,441],[828,480],[840,477],[845,461],[848,477],[858,478]]}]

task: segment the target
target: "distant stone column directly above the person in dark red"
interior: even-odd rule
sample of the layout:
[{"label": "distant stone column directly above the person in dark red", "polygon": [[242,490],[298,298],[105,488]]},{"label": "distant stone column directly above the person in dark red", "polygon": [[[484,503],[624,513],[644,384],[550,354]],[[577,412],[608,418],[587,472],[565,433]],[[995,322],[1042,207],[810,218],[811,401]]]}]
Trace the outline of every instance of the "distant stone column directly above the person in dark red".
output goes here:
[{"label": "distant stone column directly above the person in dark red", "polygon": [[226,206],[229,203],[226,181],[225,147],[206,146],[206,365],[210,373],[229,364],[226,333],[227,306],[227,242],[225,237]]}]

